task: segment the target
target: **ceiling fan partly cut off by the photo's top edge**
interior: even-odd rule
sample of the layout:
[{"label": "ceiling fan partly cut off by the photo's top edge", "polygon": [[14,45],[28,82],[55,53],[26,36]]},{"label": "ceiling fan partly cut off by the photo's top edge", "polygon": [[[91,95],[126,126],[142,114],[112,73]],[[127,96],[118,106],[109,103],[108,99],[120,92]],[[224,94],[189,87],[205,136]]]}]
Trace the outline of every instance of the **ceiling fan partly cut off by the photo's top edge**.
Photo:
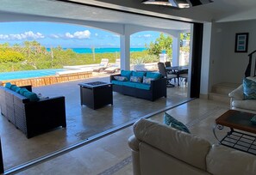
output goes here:
[{"label": "ceiling fan partly cut off by the photo's top edge", "polygon": [[213,3],[213,0],[143,0],[141,3],[165,5],[174,9],[185,9],[206,3]]}]

